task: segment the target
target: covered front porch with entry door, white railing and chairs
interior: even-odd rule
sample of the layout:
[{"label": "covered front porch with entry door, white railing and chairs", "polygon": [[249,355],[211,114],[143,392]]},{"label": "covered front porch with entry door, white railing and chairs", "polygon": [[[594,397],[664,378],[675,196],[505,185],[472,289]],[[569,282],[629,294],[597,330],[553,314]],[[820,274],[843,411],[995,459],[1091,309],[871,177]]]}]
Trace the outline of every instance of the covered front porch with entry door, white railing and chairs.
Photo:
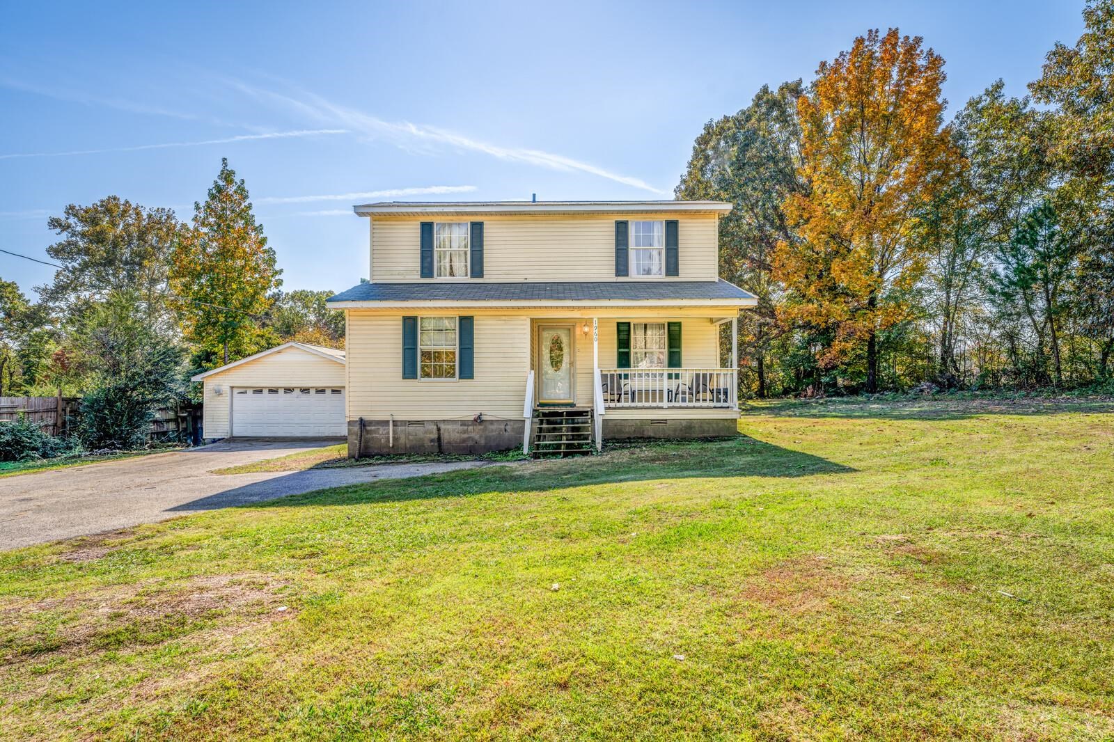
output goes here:
[{"label": "covered front porch with entry door, white railing and chairs", "polygon": [[[721,329],[727,324],[730,365],[720,358]],[[596,450],[605,438],[733,435],[737,338],[735,315],[531,319],[524,452],[537,450],[539,430],[551,433],[547,410],[563,408],[586,418],[590,437],[582,430],[577,441]],[[698,365],[684,363],[688,358]]]}]

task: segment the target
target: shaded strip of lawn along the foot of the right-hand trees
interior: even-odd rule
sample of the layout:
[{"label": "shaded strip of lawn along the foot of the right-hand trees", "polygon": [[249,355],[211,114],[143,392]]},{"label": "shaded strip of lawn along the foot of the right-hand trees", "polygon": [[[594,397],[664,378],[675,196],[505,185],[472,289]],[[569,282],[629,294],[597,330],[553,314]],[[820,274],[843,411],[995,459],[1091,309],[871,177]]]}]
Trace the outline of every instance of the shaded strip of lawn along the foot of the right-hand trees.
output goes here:
[{"label": "shaded strip of lawn along the foot of the right-hand trees", "polygon": [[962,420],[986,414],[1062,414],[1065,412],[1114,413],[1114,399],[1103,398],[940,398],[868,400],[828,398],[784,400],[743,406],[742,417],[849,418],[886,420]]}]

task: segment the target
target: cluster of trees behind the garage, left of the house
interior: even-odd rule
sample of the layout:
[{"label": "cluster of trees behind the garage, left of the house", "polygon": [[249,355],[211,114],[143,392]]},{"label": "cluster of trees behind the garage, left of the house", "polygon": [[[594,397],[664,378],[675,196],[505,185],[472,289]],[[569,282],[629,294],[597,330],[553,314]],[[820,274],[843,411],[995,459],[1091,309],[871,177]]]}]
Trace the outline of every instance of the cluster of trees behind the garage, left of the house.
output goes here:
[{"label": "cluster of trees behind the garage, left of the house", "polygon": [[192,374],[299,340],[343,348],[332,292],[281,290],[243,179],[222,160],[189,222],[108,196],[48,227],[58,270],[30,301],[0,279],[0,396],[80,396],[88,447],[139,442]]}]

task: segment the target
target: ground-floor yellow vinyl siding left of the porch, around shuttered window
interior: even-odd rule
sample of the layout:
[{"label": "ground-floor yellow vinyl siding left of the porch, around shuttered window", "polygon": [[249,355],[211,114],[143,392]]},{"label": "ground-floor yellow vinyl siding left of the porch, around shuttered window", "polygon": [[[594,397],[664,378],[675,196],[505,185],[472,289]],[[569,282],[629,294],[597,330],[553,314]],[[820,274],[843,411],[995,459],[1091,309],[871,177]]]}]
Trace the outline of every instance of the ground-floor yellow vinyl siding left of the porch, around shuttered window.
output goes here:
[{"label": "ground-floor yellow vinyl siding left of the porch, around shuttered window", "polygon": [[[419,314],[407,312],[407,315]],[[422,312],[456,316],[470,312]],[[349,312],[349,419],[522,419],[530,369],[529,315],[473,314],[473,379],[403,379],[402,313]]]}]

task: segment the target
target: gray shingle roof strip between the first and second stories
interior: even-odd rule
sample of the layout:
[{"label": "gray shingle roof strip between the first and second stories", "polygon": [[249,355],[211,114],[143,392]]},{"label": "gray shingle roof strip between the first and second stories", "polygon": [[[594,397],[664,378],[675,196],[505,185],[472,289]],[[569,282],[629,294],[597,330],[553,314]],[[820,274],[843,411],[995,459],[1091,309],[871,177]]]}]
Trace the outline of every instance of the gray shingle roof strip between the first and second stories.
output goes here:
[{"label": "gray shingle roof strip between the first and second stories", "polygon": [[739,286],[719,281],[560,281],[515,283],[361,283],[331,299],[336,302],[584,302],[667,300],[752,300]]}]

